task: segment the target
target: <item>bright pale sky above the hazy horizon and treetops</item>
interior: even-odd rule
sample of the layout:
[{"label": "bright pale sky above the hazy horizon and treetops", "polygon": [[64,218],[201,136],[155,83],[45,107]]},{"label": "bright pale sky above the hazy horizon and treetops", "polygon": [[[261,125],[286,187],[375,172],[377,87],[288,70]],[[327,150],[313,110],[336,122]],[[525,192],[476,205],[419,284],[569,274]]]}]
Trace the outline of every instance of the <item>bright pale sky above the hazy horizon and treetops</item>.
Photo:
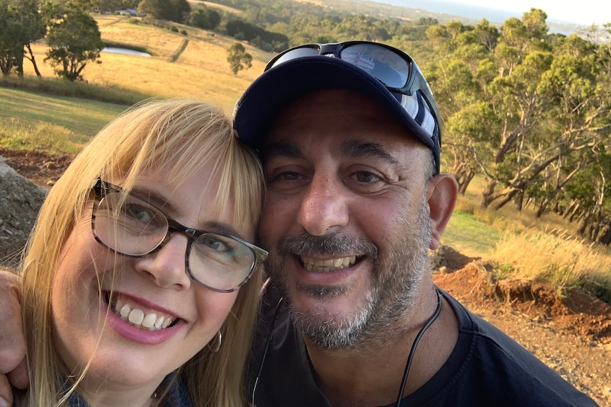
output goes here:
[{"label": "bright pale sky above the hazy horizon and treetops", "polygon": [[[562,21],[576,23],[579,25],[592,25],[611,23],[611,1],[610,0],[374,0],[380,3],[394,4],[397,6],[423,8],[429,11],[443,12],[443,4],[453,3],[457,6],[469,4],[471,6],[500,9],[515,13],[517,18],[530,8],[540,8],[547,14],[547,21]],[[489,18],[488,18],[489,19]],[[498,21],[502,23],[504,21]]]}]

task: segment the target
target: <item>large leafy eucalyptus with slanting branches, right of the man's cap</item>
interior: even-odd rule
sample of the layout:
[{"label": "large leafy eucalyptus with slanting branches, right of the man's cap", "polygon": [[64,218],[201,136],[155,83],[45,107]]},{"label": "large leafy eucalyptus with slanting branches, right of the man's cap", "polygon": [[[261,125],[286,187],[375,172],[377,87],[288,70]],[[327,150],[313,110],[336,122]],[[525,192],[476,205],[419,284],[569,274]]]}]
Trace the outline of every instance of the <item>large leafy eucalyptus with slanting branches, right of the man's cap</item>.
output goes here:
[{"label": "large leafy eucalyptus with slanting branches, right of the man's cap", "polygon": [[608,58],[576,35],[549,40],[545,20],[532,8],[500,31],[485,20],[427,30],[440,55],[430,78],[450,171],[463,193],[483,174],[483,207],[526,198],[546,210],[597,161],[608,134]]}]

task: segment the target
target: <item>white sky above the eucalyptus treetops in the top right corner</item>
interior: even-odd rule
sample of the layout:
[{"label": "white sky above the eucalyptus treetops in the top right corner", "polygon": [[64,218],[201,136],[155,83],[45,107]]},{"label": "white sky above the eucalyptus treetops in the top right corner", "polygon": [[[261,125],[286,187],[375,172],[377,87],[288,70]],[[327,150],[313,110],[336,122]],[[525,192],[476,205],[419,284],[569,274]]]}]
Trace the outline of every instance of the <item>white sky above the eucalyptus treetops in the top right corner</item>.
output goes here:
[{"label": "white sky above the eucalyptus treetops in the top right corner", "polygon": [[[446,1],[488,8],[493,8],[493,4],[495,4],[490,0]],[[545,11],[548,20],[560,20],[582,25],[611,22],[611,1],[609,0],[512,0],[503,1],[494,8],[524,13],[532,7]]]}]

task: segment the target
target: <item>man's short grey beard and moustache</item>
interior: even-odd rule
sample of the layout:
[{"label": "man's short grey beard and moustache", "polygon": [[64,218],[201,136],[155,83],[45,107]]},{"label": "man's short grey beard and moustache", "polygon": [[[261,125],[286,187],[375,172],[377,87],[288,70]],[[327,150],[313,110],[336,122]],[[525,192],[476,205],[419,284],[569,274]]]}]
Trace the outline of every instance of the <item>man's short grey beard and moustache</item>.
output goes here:
[{"label": "man's short grey beard and moustache", "polygon": [[[369,239],[353,239],[340,234],[312,236],[301,234],[284,237],[278,242],[277,255],[270,256],[267,270],[274,284],[283,292],[291,309],[293,322],[319,348],[341,350],[357,348],[364,343],[383,343],[388,329],[398,322],[405,311],[415,304],[425,270],[428,247],[432,238],[426,198],[422,197],[415,224],[400,219],[403,238],[382,260],[377,246]],[[269,247],[269,246],[268,246]],[[283,258],[291,254],[337,256],[342,253],[363,253],[373,260],[371,290],[366,294],[365,306],[354,315],[317,314],[315,309],[298,309],[286,293],[286,281],[281,273]],[[297,290],[312,297],[340,297],[349,286],[298,285]]]}]

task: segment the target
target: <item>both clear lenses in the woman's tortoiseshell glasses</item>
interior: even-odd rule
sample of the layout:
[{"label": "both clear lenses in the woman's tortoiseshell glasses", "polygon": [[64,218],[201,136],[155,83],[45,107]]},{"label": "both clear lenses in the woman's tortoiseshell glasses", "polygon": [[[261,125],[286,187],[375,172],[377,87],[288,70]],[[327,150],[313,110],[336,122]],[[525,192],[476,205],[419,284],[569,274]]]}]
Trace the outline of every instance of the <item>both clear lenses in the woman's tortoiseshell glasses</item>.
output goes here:
[{"label": "both clear lenses in the woman's tortoiseshell glasses", "polygon": [[[145,256],[164,242],[167,217],[144,200],[106,193],[95,212],[94,234],[111,250]],[[216,290],[231,290],[249,275],[256,257],[250,247],[222,234],[205,233],[187,246],[189,270],[198,282]]]}]

